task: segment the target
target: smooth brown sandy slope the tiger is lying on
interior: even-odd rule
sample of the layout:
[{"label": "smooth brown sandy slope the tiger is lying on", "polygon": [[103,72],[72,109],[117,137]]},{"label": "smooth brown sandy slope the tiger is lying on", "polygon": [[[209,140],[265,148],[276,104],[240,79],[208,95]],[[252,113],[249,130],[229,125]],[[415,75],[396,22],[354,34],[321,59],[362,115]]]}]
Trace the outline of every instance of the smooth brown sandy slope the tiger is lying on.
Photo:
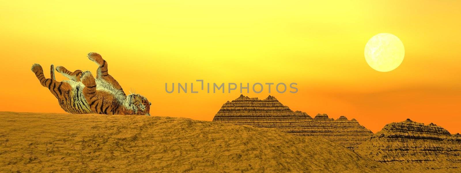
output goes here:
[{"label": "smooth brown sandy slope the tiger is lying on", "polygon": [[157,116],[0,112],[0,172],[400,172],[317,137]]}]

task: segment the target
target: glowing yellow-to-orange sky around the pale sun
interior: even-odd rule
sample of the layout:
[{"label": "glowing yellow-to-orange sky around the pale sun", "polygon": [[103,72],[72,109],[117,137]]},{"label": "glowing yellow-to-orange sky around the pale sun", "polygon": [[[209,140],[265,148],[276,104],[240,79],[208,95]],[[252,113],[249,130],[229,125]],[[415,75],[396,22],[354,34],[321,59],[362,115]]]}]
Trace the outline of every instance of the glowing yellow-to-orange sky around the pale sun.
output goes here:
[{"label": "glowing yellow-to-orange sky around the pale sun", "polygon": [[[30,66],[91,70],[100,53],[152,115],[212,120],[240,93],[165,92],[165,83],[296,82],[292,110],[357,119],[373,132],[407,118],[461,132],[461,1],[5,1],[0,111],[64,112]],[[391,33],[405,59],[377,72],[368,39]],[[48,76],[49,72],[45,72]],[[56,75],[58,80],[64,80]],[[266,98],[260,94],[245,94]]]}]

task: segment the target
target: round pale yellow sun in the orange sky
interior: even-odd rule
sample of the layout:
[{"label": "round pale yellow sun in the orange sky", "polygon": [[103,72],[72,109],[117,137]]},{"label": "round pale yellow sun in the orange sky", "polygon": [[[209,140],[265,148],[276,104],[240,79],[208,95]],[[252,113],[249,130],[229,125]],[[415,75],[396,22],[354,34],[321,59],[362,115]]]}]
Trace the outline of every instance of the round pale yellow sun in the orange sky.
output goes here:
[{"label": "round pale yellow sun in the orange sky", "polygon": [[402,64],[405,48],[397,36],[380,33],[365,45],[365,60],[379,72],[390,72]]}]

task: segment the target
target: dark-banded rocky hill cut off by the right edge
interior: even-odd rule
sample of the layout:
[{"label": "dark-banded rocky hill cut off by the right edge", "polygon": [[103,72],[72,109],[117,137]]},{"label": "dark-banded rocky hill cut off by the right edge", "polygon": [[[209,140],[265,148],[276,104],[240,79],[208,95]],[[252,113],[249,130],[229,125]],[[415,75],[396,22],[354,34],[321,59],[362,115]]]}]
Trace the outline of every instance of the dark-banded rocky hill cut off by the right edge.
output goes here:
[{"label": "dark-banded rocky hill cut off by the right edge", "polygon": [[375,161],[428,169],[459,168],[461,135],[444,128],[407,119],[390,123],[355,151]]}]

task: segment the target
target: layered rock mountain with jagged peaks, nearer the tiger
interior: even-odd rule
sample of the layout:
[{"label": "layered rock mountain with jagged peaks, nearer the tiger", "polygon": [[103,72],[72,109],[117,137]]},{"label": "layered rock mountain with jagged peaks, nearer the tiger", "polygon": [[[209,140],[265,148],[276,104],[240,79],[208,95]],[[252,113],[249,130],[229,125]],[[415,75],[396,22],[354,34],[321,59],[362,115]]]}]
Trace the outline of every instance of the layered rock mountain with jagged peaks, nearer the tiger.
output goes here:
[{"label": "layered rock mountain with jagged peaks, nearer the tiger", "polygon": [[240,95],[233,101],[227,101],[213,121],[276,128],[298,136],[323,137],[349,149],[354,149],[373,135],[355,119],[341,116],[335,120],[327,114],[317,114],[312,118],[307,113],[292,111],[271,95],[264,100]]}]

